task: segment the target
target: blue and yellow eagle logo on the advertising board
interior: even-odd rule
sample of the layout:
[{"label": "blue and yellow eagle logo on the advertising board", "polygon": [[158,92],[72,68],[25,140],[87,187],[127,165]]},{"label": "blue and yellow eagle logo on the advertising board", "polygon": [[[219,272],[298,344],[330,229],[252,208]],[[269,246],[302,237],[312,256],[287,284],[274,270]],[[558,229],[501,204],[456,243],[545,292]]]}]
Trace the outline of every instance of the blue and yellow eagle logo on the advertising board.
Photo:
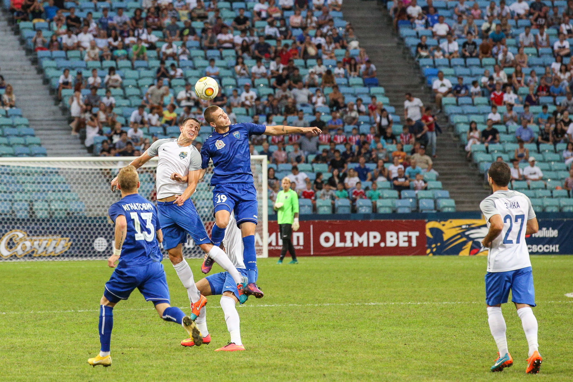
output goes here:
[{"label": "blue and yellow eagle logo on the advertising board", "polygon": [[450,219],[426,223],[427,255],[487,255],[481,240],[488,234],[484,219]]}]

